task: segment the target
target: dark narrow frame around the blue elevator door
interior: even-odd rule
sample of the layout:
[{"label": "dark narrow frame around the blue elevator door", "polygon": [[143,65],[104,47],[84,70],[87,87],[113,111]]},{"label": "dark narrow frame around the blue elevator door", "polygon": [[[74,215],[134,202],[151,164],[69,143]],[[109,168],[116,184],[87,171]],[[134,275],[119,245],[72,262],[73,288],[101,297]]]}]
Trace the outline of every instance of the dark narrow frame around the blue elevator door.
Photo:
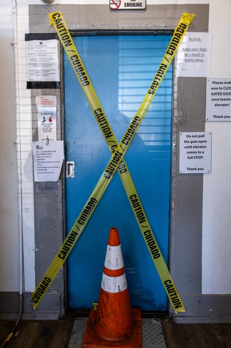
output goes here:
[{"label": "dark narrow frame around the blue elevator door", "polygon": [[[173,35],[174,29],[166,29],[166,30],[140,30],[140,29],[134,29],[134,30],[70,30],[69,31],[71,36],[103,36],[103,35]],[[61,50],[61,76],[62,76],[62,136],[63,140],[65,142],[65,122],[64,122],[64,49],[62,45],[60,45]],[[172,69],[172,125],[171,125],[171,145],[176,144],[176,137],[177,137],[177,127],[176,127],[176,100],[174,96],[176,95],[176,82],[177,79],[175,77],[175,58],[173,59],[173,69]],[[175,126],[175,127],[174,127]],[[174,142],[175,141],[175,142]],[[175,145],[176,146],[176,145]],[[174,146],[171,146],[171,159],[170,159],[170,200],[169,200],[169,227],[168,227],[168,264],[167,267],[170,269],[170,259],[171,259],[171,248],[170,248],[170,242],[171,242],[171,231],[172,231],[172,176],[176,175],[176,150],[174,149]],[[65,162],[66,158],[64,158],[64,164],[63,164],[63,231],[64,231],[64,238],[66,237],[68,231],[66,227],[66,177],[65,177]],[[67,272],[67,263],[64,264],[64,298],[65,298],[65,313],[67,313],[67,310],[69,309],[68,306],[68,282],[67,282],[68,272]],[[170,304],[169,300],[167,299],[167,311],[163,312],[155,312],[155,311],[142,311],[142,317],[153,317],[156,314],[158,315],[169,315],[170,312]],[[75,313],[78,312],[80,316],[88,316],[90,310],[85,309],[75,309]]]}]

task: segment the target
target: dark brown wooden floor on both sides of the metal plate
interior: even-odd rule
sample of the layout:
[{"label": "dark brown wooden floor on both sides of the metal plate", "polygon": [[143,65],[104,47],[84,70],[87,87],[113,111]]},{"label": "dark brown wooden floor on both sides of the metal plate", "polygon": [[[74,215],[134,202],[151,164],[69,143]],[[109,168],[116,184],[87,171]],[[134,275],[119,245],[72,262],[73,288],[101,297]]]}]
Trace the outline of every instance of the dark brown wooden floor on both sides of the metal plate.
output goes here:
[{"label": "dark brown wooden floor on both sides of the metal plate", "polygon": [[[73,314],[59,321],[21,321],[11,348],[68,348]],[[15,322],[0,321],[0,345]],[[231,324],[172,324],[161,319],[167,348],[231,348]]]}]

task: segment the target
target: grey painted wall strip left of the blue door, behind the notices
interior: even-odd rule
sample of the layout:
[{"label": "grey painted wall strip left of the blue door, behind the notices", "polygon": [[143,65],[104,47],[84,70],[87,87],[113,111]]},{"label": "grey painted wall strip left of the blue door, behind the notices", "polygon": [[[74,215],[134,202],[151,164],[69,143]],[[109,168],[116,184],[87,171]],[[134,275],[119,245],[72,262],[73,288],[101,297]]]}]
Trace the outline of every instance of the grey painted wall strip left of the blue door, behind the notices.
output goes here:
[{"label": "grey painted wall strip left of the blue door, behind the notices", "polygon": [[[60,45],[59,48],[61,49]],[[60,51],[61,55],[61,51]],[[61,63],[61,60],[59,60]],[[60,71],[62,71],[60,64]],[[61,73],[62,81],[62,73]],[[32,139],[38,141],[38,115],[35,106],[37,95],[55,95],[57,97],[57,140],[63,140],[63,95],[62,89],[32,89]],[[63,164],[64,169],[64,164]],[[35,240],[35,286],[38,285],[45,271],[50,266],[59,247],[65,239],[64,182],[65,171],[62,169],[59,180],[34,183],[34,240]],[[46,298],[46,299],[45,299]],[[59,271],[49,291],[44,296],[47,303],[41,301],[35,311],[49,311],[53,315],[65,314],[65,267]],[[31,306],[28,308],[31,310]],[[52,315],[51,315],[52,317]]]}]

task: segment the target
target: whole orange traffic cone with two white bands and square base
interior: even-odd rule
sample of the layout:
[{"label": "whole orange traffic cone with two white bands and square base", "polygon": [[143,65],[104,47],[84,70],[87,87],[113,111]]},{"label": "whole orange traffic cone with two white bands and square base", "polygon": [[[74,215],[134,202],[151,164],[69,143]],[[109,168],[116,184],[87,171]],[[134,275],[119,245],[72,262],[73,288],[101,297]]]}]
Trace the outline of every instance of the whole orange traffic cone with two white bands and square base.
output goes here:
[{"label": "whole orange traffic cone with two white bands and square base", "polygon": [[118,229],[110,229],[97,310],[91,309],[82,348],[141,348],[140,309],[131,308]]}]

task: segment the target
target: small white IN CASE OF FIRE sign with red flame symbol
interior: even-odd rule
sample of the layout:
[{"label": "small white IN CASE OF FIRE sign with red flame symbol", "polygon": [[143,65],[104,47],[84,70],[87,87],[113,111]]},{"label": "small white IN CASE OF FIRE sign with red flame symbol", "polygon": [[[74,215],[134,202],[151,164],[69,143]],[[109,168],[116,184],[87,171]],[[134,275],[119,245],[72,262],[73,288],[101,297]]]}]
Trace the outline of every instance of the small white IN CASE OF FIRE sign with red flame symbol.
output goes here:
[{"label": "small white IN CASE OF FIRE sign with red flame symbol", "polygon": [[56,108],[38,108],[39,141],[56,140]]}]

